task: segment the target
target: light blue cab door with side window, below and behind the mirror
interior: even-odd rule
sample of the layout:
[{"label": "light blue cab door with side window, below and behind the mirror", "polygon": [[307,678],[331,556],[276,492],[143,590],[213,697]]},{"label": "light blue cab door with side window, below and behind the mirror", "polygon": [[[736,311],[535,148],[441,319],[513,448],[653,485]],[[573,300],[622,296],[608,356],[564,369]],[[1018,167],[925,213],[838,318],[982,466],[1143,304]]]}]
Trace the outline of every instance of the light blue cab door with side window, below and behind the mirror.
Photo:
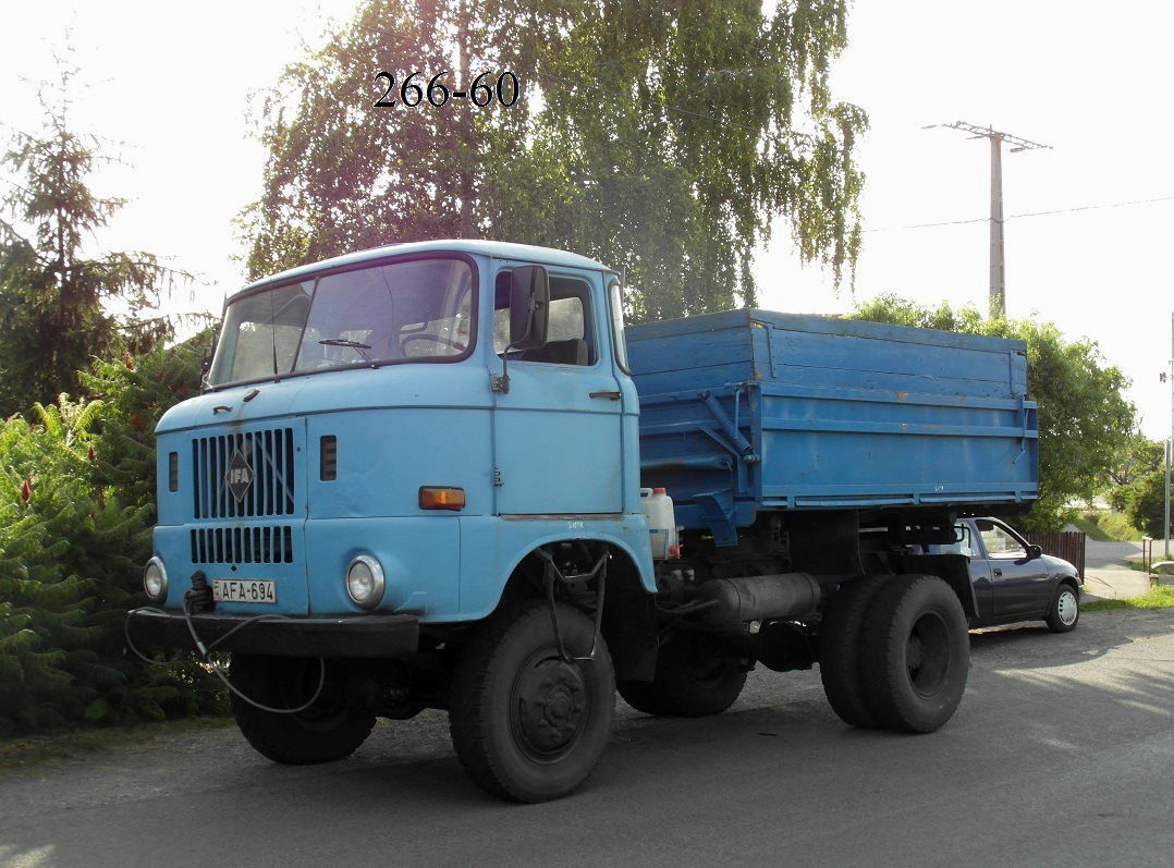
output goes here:
[{"label": "light blue cab door with side window, below and behind the mirror", "polygon": [[[494,349],[506,355],[508,271],[497,281]],[[506,356],[508,392],[495,395],[494,490],[499,514],[622,512],[620,384],[592,276],[551,274],[546,345]]]}]

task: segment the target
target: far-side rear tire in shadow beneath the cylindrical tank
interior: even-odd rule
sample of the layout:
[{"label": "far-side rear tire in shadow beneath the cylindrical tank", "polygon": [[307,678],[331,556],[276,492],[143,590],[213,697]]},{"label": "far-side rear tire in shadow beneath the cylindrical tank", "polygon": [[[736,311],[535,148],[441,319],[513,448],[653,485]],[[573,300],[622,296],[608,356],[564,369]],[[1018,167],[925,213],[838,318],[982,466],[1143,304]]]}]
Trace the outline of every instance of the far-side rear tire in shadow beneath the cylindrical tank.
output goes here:
[{"label": "far-side rear tire in shadow beneath the cylindrical tank", "polygon": [[652,681],[621,681],[623,700],[637,712],[670,718],[721,714],[745,685],[745,668],[730,661],[718,633],[679,630],[661,646]]}]

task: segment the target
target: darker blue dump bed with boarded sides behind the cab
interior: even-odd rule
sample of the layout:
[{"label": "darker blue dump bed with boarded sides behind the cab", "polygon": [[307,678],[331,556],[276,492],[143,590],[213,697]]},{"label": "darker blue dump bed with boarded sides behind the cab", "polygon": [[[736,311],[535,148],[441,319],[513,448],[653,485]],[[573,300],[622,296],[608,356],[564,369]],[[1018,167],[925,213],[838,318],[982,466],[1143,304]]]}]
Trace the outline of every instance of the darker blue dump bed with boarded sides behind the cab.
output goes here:
[{"label": "darker blue dump bed with boarded sides behind the cab", "polygon": [[627,337],[641,484],[718,544],[762,510],[997,512],[1037,497],[1021,341],[762,310]]}]

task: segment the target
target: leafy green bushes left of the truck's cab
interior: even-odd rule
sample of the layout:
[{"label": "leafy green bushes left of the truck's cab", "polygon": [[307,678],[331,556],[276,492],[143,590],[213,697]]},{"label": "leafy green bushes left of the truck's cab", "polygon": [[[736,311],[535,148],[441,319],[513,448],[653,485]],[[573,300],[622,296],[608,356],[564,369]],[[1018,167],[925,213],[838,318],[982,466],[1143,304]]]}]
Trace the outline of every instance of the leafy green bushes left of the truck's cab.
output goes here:
[{"label": "leafy green bushes left of the truck's cab", "polygon": [[155,422],[198,384],[200,346],[96,364],[0,428],[0,734],[223,711],[190,658],[128,653],[155,520]]}]

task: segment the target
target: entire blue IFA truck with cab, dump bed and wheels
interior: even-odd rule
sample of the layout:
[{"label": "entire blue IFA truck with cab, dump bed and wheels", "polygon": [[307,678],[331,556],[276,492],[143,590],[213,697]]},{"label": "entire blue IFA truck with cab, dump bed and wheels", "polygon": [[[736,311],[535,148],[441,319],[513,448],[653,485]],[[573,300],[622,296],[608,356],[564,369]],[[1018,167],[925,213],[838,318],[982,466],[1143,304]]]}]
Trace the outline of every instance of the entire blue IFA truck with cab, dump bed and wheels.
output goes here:
[{"label": "entire blue IFA truck with cab, dump bed and wheels", "polygon": [[583,783],[616,692],[715,714],[755,666],[818,664],[853,726],[937,729],[977,608],[966,558],[926,552],[1037,497],[1020,342],[758,310],[626,328],[615,270],[520,244],[258,281],[205,386],[158,423],[134,646],[208,659],[277,762],[445,709],[517,801]]}]

